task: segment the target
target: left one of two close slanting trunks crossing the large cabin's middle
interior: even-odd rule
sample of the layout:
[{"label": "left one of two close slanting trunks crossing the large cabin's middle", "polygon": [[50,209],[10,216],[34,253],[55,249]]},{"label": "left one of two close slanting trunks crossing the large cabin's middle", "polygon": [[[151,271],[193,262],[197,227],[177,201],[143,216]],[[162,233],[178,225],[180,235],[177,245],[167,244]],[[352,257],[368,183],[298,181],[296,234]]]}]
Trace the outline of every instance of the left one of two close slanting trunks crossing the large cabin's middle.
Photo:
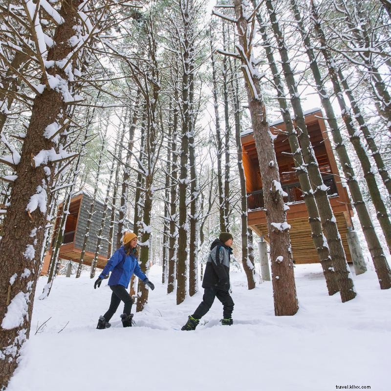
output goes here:
[{"label": "left one of two close slanting trunks crossing the large cabin's middle", "polygon": [[[254,7],[256,1],[253,0]],[[303,192],[303,199],[308,212],[308,222],[311,227],[311,236],[317,251],[319,261],[322,265],[323,274],[326,280],[326,286],[329,295],[338,292],[338,285],[335,274],[332,268],[332,262],[328,246],[323,235],[322,224],[318,213],[315,197],[311,189],[311,184],[308,178],[307,169],[304,164],[303,155],[300,149],[297,132],[293,126],[292,118],[289,113],[288,105],[285,98],[284,86],[280,71],[274,59],[272,46],[268,39],[265,23],[261,20],[261,16],[257,14],[258,23],[260,25],[260,32],[263,41],[263,47],[266,51],[266,57],[269,63],[270,70],[273,74],[273,81],[277,91],[277,99],[280,105],[282,119],[285,124],[286,134],[288,136],[289,145],[292,151],[292,157],[298,174],[300,187]]]}]

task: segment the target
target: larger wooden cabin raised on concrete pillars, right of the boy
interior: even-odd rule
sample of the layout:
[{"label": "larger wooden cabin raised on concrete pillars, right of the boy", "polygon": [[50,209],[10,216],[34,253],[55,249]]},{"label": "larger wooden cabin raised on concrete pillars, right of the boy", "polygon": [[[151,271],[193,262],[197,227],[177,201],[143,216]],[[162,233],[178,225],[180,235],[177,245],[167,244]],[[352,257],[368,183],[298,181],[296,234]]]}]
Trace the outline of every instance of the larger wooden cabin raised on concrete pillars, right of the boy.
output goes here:
[{"label": "larger wooden cabin raised on concrete pillars, right of the boy", "polygon": [[[341,234],[347,260],[351,261],[346,233],[353,227],[351,220],[353,211],[347,190],[340,180],[321,109],[313,109],[306,112],[305,124],[323,180],[329,188],[327,193],[337,220],[338,230]],[[284,198],[284,201],[289,205],[287,220],[291,225],[289,233],[293,259],[296,263],[317,262],[319,259],[312,241],[308,213],[302,197],[299,179],[294,170],[293,158],[284,153],[291,153],[289,142],[286,135],[281,132],[279,133],[279,130],[285,130],[283,121],[271,124],[270,130],[273,134],[277,135],[274,141],[274,149],[279,166],[282,189],[288,194]],[[259,236],[264,237],[268,241],[262,181],[253,133],[243,132],[241,143],[243,147],[243,168],[248,196],[248,225]]]}]

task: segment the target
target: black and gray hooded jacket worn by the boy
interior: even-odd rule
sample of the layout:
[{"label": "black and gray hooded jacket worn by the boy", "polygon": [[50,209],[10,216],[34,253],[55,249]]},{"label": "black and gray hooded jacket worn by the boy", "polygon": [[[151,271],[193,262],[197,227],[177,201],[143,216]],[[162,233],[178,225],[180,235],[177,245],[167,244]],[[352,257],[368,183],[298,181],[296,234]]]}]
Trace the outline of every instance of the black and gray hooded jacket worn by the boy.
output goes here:
[{"label": "black and gray hooded jacket worn by the boy", "polygon": [[229,261],[232,248],[216,239],[211,245],[211,253],[206,262],[202,280],[203,288],[229,289]]}]

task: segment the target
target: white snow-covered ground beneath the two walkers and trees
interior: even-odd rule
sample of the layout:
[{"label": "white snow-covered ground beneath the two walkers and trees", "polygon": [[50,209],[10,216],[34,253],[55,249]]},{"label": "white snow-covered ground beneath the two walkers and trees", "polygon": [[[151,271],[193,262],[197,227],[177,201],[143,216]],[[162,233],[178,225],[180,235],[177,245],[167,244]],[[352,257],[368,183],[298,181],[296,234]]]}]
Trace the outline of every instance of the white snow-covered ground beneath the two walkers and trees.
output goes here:
[{"label": "white snow-covered ground beneath the two walkers and trees", "polygon": [[203,290],[175,305],[159,266],[149,274],[156,289],[131,328],[122,327],[120,306],[111,328],[95,329],[109,306],[105,282],[94,290],[88,276],[58,277],[49,298],[34,304],[30,340],[7,391],[390,390],[391,290],[381,291],[369,270],[354,276],[357,298],[342,304],[339,294],[327,295],[319,264],[297,265],[295,275],[297,315],[274,316],[271,283],[248,291],[244,273],[232,273],[234,326],[219,324],[216,301],[194,332],[174,328]]}]

